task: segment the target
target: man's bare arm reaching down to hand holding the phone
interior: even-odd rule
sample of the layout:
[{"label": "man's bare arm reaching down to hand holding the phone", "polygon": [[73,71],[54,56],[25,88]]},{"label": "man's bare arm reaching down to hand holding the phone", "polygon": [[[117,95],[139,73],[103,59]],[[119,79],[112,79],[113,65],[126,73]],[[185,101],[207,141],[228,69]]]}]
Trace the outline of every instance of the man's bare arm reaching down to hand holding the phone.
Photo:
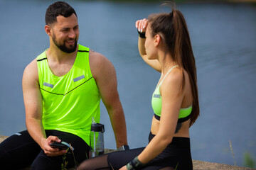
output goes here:
[{"label": "man's bare arm reaching down to hand holding the phone", "polygon": [[65,150],[53,149],[50,143],[60,142],[58,137],[46,137],[42,124],[42,96],[38,85],[38,69],[36,60],[26,67],[22,79],[23,99],[26,111],[26,127],[29,134],[48,156],[64,154]]}]

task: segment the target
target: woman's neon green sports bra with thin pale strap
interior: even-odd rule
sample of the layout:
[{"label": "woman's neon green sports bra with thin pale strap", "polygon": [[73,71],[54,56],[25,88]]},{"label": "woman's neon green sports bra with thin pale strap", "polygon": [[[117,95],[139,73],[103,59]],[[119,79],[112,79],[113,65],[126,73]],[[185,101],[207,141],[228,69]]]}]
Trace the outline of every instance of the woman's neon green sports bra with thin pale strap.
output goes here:
[{"label": "woman's neon green sports bra with thin pale strap", "polygon": [[[178,67],[178,65],[171,67],[171,69],[169,69],[169,72],[171,72],[171,70],[174,69],[175,67]],[[169,74],[169,72],[167,72],[164,79]],[[162,101],[161,101],[161,94],[160,94],[160,86],[161,86],[162,82],[164,81],[164,79],[162,79],[161,82],[159,83],[159,85],[156,86],[156,89],[152,95],[152,100],[151,100],[151,105],[152,105],[153,111],[158,116],[161,116]],[[191,111],[192,111],[192,106],[190,106],[188,108],[181,108],[178,118],[186,118],[188,115],[190,115]]]}]

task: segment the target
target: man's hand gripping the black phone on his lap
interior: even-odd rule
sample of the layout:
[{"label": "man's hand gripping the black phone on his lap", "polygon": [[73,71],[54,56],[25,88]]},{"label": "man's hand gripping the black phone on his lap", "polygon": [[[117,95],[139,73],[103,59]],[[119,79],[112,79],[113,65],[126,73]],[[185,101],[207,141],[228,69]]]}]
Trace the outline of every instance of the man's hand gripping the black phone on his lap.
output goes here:
[{"label": "man's hand gripping the black phone on his lap", "polygon": [[53,142],[61,142],[61,140],[58,137],[49,136],[47,139],[41,141],[41,147],[48,157],[56,157],[68,152],[64,149],[50,147],[50,144]]}]

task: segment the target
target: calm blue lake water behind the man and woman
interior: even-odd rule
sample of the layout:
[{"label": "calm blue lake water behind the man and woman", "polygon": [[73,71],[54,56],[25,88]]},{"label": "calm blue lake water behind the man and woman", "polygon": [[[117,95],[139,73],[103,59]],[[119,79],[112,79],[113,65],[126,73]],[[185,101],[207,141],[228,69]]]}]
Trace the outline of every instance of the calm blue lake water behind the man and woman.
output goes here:
[{"label": "calm blue lake water behind the man and woman", "polygon": [[[48,45],[46,8],[53,1],[0,1],[0,135],[26,128],[21,89],[23,69]],[[151,94],[160,74],[139,57],[135,21],[160,11],[159,3],[68,1],[77,11],[79,43],[102,53],[117,71],[129,146],[143,147],[151,125]],[[201,116],[191,127],[193,159],[242,166],[256,160],[256,6],[180,4],[198,70]],[[166,11],[166,8],[164,8]],[[114,134],[102,105],[105,147]]]}]

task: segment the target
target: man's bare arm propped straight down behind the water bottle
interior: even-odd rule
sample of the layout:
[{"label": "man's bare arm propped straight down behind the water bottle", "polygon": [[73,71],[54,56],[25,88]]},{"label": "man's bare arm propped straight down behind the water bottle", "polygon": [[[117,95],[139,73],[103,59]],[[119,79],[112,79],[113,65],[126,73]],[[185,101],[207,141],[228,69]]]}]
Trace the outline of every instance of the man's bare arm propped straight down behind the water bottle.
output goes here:
[{"label": "man's bare arm propped straight down behind the water bottle", "polygon": [[117,148],[127,145],[124,111],[117,91],[117,75],[113,64],[100,53],[90,50],[90,67],[102,101],[110,115]]}]

